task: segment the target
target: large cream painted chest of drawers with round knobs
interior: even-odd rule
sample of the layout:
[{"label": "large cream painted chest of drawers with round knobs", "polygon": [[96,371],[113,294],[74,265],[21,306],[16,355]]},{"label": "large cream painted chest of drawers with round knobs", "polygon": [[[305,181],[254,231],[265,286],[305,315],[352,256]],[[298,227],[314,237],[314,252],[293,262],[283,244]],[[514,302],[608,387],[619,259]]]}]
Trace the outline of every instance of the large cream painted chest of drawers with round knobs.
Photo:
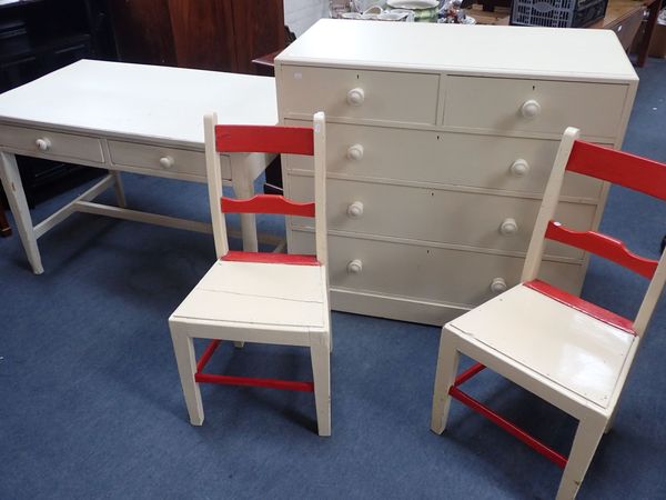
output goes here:
[{"label": "large cream painted chest of drawers with round knobs", "polygon": [[[275,77],[281,122],[326,112],[333,308],[432,324],[517,283],[562,132],[619,148],[638,84],[612,31],[345,20]],[[310,199],[311,177],[283,159],[286,196]],[[606,190],[568,179],[558,218],[595,228]],[[309,221],[287,246],[313,250]],[[579,293],[586,267],[553,244],[542,277]]]}]

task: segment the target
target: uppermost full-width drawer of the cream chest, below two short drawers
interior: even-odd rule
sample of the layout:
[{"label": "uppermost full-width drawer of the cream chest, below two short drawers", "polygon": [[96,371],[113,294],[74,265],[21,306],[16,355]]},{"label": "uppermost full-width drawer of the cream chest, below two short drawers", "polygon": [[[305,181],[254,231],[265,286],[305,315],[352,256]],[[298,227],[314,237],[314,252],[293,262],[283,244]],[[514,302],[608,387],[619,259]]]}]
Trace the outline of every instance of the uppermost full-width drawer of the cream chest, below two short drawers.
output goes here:
[{"label": "uppermost full-width drawer of the cream chest, below two short drawers", "polygon": [[[558,140],[341,123],[327,123],[326,138],[330,173],[525,193],[544,192],[559,146]],[[286,170],[312,171],[309,157],[283,156],[282,161]],[[562,192],[598,200],[602,187],[596,179],[569,174]]]}]

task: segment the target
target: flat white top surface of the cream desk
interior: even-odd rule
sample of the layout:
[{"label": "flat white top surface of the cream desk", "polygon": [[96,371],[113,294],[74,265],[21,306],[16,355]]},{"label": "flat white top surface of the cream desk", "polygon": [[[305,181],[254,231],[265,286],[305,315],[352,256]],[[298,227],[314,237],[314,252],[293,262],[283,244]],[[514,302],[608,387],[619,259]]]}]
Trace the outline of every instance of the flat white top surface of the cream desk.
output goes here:
[{"label": "flat white top surface of the cream desk", "polygon": [[81,60],[0,94],[0,122],[203,148],[203,116],[275,124],[270,77]]}]

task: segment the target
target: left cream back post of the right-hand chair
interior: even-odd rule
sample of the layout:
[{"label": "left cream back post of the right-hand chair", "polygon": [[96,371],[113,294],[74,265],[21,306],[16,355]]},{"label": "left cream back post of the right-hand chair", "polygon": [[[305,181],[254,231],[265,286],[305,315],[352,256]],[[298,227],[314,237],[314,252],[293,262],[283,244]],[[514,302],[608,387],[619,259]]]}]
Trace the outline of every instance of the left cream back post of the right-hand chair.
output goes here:
[{"label": "left cream back post of the right-hand chair", "polygon": [[544,254],[544,247],[546,244],[546,229],[548,222],[553,220],[555,210],[557,209],[557,202],[559,200],[559,191],[562,190],[562,183],[564,181],[564,173],[568,158],[572,153],[574,142],[578,139],[581,131],[574,127],[568,127],[562,136],[557,154],[555,156],[555,162],[553,163],[553,170],[546,184],[544,198],[542,200],[538,217],[534,224],[534,232],[527,247],[527,256],[525,257],[525,264],[523,266],[523,274],[521,281],[532,281],[536,279],[541,267],[541,261]]}]

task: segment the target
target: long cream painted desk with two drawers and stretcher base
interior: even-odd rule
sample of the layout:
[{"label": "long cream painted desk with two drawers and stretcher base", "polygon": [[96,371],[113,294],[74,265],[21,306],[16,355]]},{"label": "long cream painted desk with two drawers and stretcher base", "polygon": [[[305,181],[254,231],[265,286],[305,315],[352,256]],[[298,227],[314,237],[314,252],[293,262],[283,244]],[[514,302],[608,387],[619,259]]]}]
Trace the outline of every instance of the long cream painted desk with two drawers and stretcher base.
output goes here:
[{"label": "long cream painted desk with two drawers and stretcher base", "polygon": [[[81,60],[0,94],[0,178],[33,271],[43,272],[37,239],[74,211],[211,232],[209,223],[125,208],[119,172],[205,182],[203,114],[222,123],[275,124],[272,78]],[[14,154],[109,170],[102,181],[32,224]],[[232,154],[222,177],[238,197],[270,157]],[[119,207],[92,200],[114,187]],[[243,247],[256,250],[254,216],[241,217]]]}]

